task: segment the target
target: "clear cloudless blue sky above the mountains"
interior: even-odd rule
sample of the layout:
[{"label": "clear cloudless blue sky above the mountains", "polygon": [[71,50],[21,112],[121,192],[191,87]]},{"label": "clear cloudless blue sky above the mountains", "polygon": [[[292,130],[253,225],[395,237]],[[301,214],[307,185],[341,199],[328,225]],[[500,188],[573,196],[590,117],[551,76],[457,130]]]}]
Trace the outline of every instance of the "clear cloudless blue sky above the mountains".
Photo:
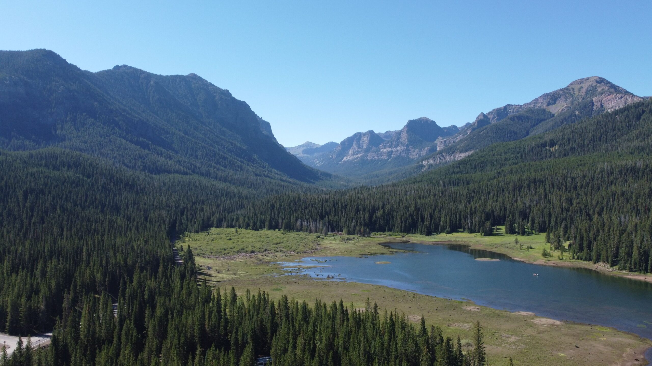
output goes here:
[{"label": "clear cloudless blue sky above the mountains", "polygon": [[652,94],[652,1],[0,1],[0,49],[194,72],[284,146],[440,126],[574,79]]}]

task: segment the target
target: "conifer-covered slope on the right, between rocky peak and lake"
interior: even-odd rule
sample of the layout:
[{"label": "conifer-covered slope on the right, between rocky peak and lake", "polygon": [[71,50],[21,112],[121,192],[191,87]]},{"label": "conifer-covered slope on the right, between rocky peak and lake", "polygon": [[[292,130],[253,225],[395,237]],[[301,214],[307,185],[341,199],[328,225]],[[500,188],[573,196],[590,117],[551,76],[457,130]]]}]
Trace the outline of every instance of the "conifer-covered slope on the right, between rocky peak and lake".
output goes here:
[{"label": "conifer-covered slope on the right, between rocky peak and lake", "polygon": [[395,184],[269,197],[237,223],[421,234],[507,223],[572,240],[576,258],[650,272],[651,156],[652,102],[638,102]]}]

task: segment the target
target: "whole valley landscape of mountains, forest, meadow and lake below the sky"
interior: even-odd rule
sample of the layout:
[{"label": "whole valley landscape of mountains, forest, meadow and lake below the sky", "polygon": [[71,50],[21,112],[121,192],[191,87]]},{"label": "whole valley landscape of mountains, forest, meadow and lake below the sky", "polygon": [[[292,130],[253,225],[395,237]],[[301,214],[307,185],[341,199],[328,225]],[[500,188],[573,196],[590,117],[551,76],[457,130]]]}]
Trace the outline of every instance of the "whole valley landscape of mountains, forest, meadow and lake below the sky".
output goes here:
[{"label": "whole valley landscape of mountains, forest, meadow and lake below the sky", "polygon": [[52,334],[1,366],[644,365],[652,101],[606,79],[293,148],[192,73],[0,85],[0,331]]}]

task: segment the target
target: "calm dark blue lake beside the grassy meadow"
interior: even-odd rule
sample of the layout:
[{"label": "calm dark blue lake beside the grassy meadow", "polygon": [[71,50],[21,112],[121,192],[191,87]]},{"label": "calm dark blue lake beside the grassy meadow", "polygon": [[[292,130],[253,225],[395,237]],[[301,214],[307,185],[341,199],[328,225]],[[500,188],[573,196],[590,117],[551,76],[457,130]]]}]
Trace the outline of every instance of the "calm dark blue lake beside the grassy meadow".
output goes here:
[{"label": "calm dark blue lake beside the grassy meadow", "polygon": [[[295,273],[384,285],[557,320],[610,326],[652,339],[652,283],[587,268],[541,266],[467,246],[391,243],[411,251],[372,257],[308,257]],[[476,258],[493,258],[481,261]],[[376,262],[390,262],[376,264]],[[286,264],[287,268],[297,266]],[[539,274],[537,276],[533,274]]]}]

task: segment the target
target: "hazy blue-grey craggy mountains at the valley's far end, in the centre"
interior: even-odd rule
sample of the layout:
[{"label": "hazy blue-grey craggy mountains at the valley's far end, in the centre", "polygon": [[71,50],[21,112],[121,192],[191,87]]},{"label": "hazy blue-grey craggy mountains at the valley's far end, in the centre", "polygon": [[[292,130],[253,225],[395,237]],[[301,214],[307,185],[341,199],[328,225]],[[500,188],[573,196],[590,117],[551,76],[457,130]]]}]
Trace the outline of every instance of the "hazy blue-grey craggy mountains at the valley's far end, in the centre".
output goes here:
[{"label": "hazy blue-grey craggy mountains at the valley's far end, in the centre", "polygon": [[401,130],[382,134],[371,130],[357,132],[339,144],[328,143],[319,147],[304,143],[288,148],[288,151],[311,167],[360,178],[368,174],[381,175],[385,169],[412,165],[422,156],[435,152],[439,139],[458,131],[456,126],[441,128],[434,120],[421,117],[408,120]]}]

